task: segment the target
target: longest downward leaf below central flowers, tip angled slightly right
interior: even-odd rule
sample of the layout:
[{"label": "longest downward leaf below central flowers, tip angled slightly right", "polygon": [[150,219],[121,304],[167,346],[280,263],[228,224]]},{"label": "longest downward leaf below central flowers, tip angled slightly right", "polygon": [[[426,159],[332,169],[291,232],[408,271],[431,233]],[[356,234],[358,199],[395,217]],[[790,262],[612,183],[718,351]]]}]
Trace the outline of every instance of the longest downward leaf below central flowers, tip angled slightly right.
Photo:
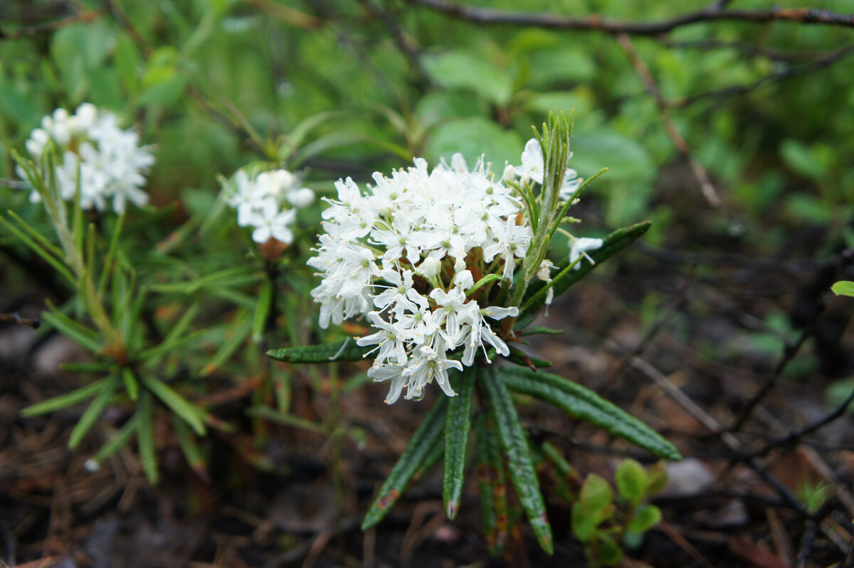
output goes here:
[{"label": "longest downward leaf below central flowers, tip angled slightly right", "polygon": [[516,406],[504,382],[499,380],[492,367],[481,375],[481,385],[489,398],[490,412],[498,426],[501,449],[506,456],[507,471],[525,515],[540,546],[547,554],[554,554],[552,528],[546,517],[546,504],[543,502],[540,482],[537,480],[534,465],[528,449],[528,440]]}]

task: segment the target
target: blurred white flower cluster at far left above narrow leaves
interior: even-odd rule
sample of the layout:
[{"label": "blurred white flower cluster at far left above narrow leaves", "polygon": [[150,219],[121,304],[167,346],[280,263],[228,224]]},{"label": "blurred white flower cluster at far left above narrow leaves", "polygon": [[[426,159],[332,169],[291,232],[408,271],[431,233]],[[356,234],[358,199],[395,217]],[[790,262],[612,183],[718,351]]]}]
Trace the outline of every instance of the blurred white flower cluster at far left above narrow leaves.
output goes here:
[{"label": "blurred white flower cluster at far left above narrow leaves", "polygon": [[[109,198],[115,212],[123,212],[126,201],[136,206],[148,203],[143,173],[155,163],[154,155],[139,146],[134,130],[119,128],[113,113],[90,103],[80,105],[74,114],[57,108],[42,119],[41,128],[32,130],[26,150],[38,161],[51,140],[61,156],[55,173],[62,199],[73,201],[79,185],[84,209],[103,211]],[[18,174],[24,177],[20,169]],[[33,191],[30,200],[39,199]]]}]

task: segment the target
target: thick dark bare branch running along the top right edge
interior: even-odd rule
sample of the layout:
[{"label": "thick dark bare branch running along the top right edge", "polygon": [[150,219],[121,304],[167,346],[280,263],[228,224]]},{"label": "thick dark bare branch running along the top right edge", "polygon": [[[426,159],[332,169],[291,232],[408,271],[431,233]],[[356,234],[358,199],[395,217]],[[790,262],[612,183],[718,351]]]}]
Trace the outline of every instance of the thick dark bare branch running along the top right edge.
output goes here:
[{"label": "thick dark bare branch running along the top right edge", "polygon": [[[829,10],[797,8],[773,8],[768,10],[728,10],[725,3],[713,4],[711,8],[689,12],[670,20],[621,21],[593,14],[574,18],[557,14],[538,14],[513,10],[479,8],[448,2],[448,0],[409,0],[425,8],[452,15],[463,20],[481,24],[509,24],[512,26],[540,26],[565,30],[591,30],[605,33],[628,33],[640,36],[656,36],[681,26],[689,26],[716,20],[742,21],[762,24],[770,21],[788,21],[798,24],[822,24],[825,26],[854,27],[854,14],[836,14]],[[718,7],[723,4],[721,7]]]}]

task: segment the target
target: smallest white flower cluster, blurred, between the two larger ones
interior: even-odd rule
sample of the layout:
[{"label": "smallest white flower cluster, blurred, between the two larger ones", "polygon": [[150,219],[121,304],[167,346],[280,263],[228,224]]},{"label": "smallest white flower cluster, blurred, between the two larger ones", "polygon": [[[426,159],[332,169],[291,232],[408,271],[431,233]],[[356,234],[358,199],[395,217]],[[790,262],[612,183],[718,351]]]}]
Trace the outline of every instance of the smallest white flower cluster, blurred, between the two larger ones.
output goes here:
[{"label": "smallest white flower cluster, blurred, between the two larger ones", "polygon": [[263,171],[254,177],[240,170],[225,201],[237,209],[238,225],[254,228],[253,241],[263,244],[275,239],[290,245],[294,241],[290,225],[296,218],[295,208],[314,202],[314,192],[299,185],[299,178],[287,170]]}]

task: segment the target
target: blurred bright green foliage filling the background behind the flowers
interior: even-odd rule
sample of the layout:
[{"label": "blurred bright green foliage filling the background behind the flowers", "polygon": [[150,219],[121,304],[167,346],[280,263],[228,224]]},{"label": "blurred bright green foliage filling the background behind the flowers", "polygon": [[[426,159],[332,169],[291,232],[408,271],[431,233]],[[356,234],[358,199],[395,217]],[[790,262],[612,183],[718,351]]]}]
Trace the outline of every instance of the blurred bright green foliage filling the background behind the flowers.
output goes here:
[{"label": "blurred bright green foliage filling the background behind the flowers", "polygon": [[[519,9],[511,0],[471,5]],[[789,0],[775,5],[803,7]],[[667,20],[710,6],[769,8],[760,0],[524,3],[531,13],[629,21]],[[844,0],[821,8],[851,11]],[[652,227],[627,264],[606,265],[590,277],[600,285],[617,282],[611,286],[620,293],[605,300],[623,298],[626,310],[603,306],[600,316],[588,316],[580,299],[555,306],[553,317],[576,332],[561,340],[605,344],[591,339],[596,333],[582,320],[608,329],[636,319],[650,338],[666,321],[671,338],[707,361],[739,373],[773,369],[771,376],[810,385],[819,396],[833,385],[832,403],[850,400],[850,343],[840,338],[851,310],[833,304],[822,319],[830,284],[845,270],[850,279],[845,251],[854,246],[850,25],[711,20],[629,38],[596,29],[477,25],[398,0],[11,0],[0,3],[0,31],[0,178],[9,186],[0,188],[3,211],[49,231],[27,192],[14,187],[10,154],[44,114],[91,101],[137,125],[143,142],[155,146],[148,190],[164,209],[126,227],[123,246],[132,255],[161,243],[158,251],[176,257],[136,268],[152,282],[168,274],[187,283],[154,289],[163,300],[149,329],[167,333],[178,320],[175,306],[186,298],[212,302],[199,317],[219,325],[209,327],[190,362],[195,369],[217,363],[204,373],[208,382],[192,383],[200,397],[241,385],[243,370],[254,368],[262,353],[249,338],[260,258],[250,258],[248,280],[190,285],[199,275],[247,265],[249,237],[233,225],[196,238],[217,211],[218,174],[278,162],[330,192],[330,179],[364,182],[372,171],[407,165],[413,156],[435,163],[457,151],[470,164],[486,154],[500,170],[505,160],[518,162],[530,125],[549,111],[574,109],[570,165],[582,177],[610,168],[574,213],[584,219],[585,234],[605,236],[642,219]],[[307,254],[315,230],[301,226],[295,258]],[[111,228],[107,222],[105,234]],[[555,258],[565,252],[558,247]],[[2,269],[9,298],[33,281],[63,296],[14,235],[0,233],[0,255],[9,260]],[[285,268],[299,276],[287,286],[304,297],[307,269]],[[686,302],[688,295],[693,300]],[[596,296],[588,290],[588,298]],[[687,307],[672,308],[676,300]],[[296,294],[278,302],[287,315],[282,341],[312,342],[305,325],[313,320],[311,307]],[[238,350],[244,340],[249,348]],[[672,356],[662,359],[672,365]],[[170,364],[174,376],[184,373],[177,356]],[[364,382],[359,369],[351,370],[345,391]],[[337,371],[312,373],[314,391],[337,403]],[[594,385],[613,388],[600,379]],[[737,388],[717,398],[714,386],[695,389],[710,406],[721,399],[722,412],[752,410],[752,397]],[[287,407],[290,398],[278,403]],[[336,440],[347,431],[354,444],[370,430],[336,420],[332,412],[319,419],[322,426],[298,426]],[[257,421],[247,430],[253,427],[264,431]],[[256,465],[271,463],[251,440],[229,439]],[[811,518],[798,519],[803,528]]]}]

